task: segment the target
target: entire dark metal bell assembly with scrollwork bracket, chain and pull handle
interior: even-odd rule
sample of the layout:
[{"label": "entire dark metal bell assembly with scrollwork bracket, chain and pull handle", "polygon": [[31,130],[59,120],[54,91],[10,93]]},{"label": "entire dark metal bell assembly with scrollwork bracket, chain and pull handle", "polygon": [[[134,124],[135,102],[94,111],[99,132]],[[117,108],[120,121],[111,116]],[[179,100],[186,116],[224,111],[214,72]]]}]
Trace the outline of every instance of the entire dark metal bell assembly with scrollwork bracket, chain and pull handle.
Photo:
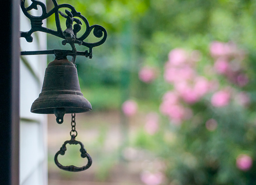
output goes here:
[{"label": "entire dark metal bell assembly with scrollwork bracket, chain and pull handle", "polygon": [[[21,37],[24,37],[28,42],[33,41],[32,34],[36,31],[46,32],[47,34],[63,38],[63,45],[67,43],[70,45],[71,50],[42,50],[42,51],[21,51],[21,55],[55,55],[55,60],[50,62],[45,71],[42,92],[39,97],[34,101],[31,107],[31,112],[38,114],[55,114],[58,124],[63,123],[63,117],[66,113],[72,113],[71,121],[71,139],[67,140],[60,150],[56,153],[54,161],[55,164],[63,170],[67,171],[83,171],[88,169],[92,164],[92,159],[84,148],[83,143],[75,140],[77,136],[75,113],[87,112],[91,110],[91,104],[85,99],[80,90],[78,81],[77,70],[75,66],[76,56],[93,57],[93,48],[102,45],[107,39],[107,31],[99,25],[89,26],[88,20],[81,15],[76,9],[69,4],[58,5],[56,0],[52,0],[54,8],[47,12],[44,3],[36,0],[31,0],[32,4],[25,6],[26,0],[21,0],[21,8],[24,15],[30,19],[31,29],[29,31],[21,31]],[[30,10],[42,8],[42,15],[33,16],[29,13]],[[65,9],[65,13],[60,12],[60,8]],[[57,30],[52,30],[43,26],[43,20],[55,15],[55,23]],[[66,19],[66,28],[63,31],[60,25],[59,15]],[[83,21],[81,21],[81,20]],[[84,34],[80,37],[77,33],[81,30],[81,25],[85,25],[86,29]],[[93,31],[93,35],[99,38],[99,41],[89,43],[84,40]],[[88,48],[85,51],[77,51],[75,44],[83,45]],[[67,60],[67,56],[71,56],[71,62]],[[74,114],[73,114],[74,113]],[[83,167],[76,166],[63,166],[58,162],[58,155],[64,155],[66,144],[77,145],[79,144],[81,157],[87,158],[88,162]]]}]

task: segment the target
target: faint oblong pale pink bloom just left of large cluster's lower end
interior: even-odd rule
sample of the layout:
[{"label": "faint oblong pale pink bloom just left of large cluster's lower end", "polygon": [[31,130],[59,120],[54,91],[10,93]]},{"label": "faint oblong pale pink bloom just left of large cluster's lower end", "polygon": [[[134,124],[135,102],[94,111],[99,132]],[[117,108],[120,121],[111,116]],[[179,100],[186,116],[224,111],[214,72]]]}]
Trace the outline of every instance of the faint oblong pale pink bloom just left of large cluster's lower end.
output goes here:
[{"label": "faint oblong pale pink bloom just left of large cluster's lower end", "polygon": [[158,130],[159,116],[157,113],[149,113],[146,116],[145,130],[148,134],[153,135]]}]

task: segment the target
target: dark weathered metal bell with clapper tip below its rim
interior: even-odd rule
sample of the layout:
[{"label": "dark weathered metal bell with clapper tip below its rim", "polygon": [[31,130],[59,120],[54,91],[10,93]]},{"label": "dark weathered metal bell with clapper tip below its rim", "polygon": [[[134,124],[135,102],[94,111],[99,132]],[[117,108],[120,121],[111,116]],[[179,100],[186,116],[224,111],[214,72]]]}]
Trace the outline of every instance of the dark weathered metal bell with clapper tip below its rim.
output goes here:
[{"label": "dark weathered metal bell with clapper tip below its rim", "polygon": [[37,114],[55,114],[58,124],[66,113],[91,110],[91,104],[81,93],[75,64],[67,59],[50,62],[45,70],[42,92],[31,106]]}]

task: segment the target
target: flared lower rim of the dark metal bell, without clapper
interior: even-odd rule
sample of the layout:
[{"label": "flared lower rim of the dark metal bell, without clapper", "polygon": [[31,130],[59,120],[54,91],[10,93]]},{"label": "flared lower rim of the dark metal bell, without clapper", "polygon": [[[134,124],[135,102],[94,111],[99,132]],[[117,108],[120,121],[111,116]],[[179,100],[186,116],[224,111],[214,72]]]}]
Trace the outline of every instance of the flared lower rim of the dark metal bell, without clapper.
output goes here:
[{"label": "flared lower rim of the dark metal bell, without clapper", "polygon": [[40,94],[31,106],[30,112],[54,114],[56,108],[65,108],[65,113],[83,113],[92,109],[85,97],[77,94]]}]

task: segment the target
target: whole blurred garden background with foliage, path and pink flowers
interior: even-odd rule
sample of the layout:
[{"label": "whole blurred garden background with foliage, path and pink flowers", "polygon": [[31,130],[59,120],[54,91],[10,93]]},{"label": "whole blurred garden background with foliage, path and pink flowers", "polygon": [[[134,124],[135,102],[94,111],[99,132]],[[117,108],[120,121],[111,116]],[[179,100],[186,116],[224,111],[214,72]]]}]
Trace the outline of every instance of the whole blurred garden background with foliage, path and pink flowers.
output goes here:
[{"label": "whole blurred garden background with foliage, path and pink flowers", "polygon": [[[105,27],[108,38],[93,59],[76,60],[93,106],[76,115],[76,139],[93,165],[77,173],[55,166],[71,116],[62,125],[49,116],[49,185],[256,184],[255,1],[57,2]],[[48,49],[63,48],[61,41],[48,36]],[[86,162],[76,146],[59,161]]]}]

